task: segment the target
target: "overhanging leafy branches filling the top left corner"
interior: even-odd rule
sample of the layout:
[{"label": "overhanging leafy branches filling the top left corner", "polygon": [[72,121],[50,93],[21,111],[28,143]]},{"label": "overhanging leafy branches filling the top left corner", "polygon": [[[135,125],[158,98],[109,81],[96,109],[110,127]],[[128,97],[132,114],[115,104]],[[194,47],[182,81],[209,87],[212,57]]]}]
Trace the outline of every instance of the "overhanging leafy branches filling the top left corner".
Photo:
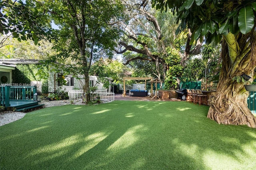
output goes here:
[{"label": "overhanging leafy branches filling the top left corner", "polygon": [[34,0],[4,0],[0,5],[0,34],[11,33],[18,41],[33,40],[34,44],[45,38],[54,39],[49,13],[42,9],[41,3]]}]

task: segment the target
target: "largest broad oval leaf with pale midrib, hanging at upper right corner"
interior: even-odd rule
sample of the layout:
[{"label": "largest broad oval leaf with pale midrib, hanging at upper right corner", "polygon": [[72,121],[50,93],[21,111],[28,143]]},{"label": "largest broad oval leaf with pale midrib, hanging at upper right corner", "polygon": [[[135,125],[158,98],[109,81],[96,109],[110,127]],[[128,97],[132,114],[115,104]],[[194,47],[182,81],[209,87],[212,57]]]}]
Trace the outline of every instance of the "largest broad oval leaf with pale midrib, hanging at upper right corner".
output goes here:
[{"label": "largest broad oval leaf with pale midrib, hanging at upper right corner", "polygon": [[238,15],[238,27],[242,34],[247,34],[254,26],[254,12],[252,7],[241,8]]}]

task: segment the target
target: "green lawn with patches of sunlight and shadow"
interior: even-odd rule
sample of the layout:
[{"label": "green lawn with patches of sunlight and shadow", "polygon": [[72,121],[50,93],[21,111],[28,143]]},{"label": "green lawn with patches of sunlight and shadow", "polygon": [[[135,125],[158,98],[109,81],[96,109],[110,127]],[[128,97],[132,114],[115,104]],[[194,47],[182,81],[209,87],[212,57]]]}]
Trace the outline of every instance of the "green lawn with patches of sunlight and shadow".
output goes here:
[{"label": "green lawn with patches of sunlight and shadow", "polygon": [[0,127],[0,169],[255,169],[256,129],[209,107],[114,101],[27,113]]}]

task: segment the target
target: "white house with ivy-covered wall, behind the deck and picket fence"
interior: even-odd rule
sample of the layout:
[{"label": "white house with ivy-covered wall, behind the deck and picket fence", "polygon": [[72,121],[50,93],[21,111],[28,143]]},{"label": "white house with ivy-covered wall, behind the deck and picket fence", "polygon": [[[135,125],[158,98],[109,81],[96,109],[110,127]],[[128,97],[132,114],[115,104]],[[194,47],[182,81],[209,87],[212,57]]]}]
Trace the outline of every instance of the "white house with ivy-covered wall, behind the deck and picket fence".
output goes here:
[{"label": "white house with ivy-covered wall, behind the deck and picket fence", "polygon": [[[40,61],[36,59],[0,59],[0,84],[13,86],[37,86],[37,90],[43,93],[52,93],[61,87],[63,90],[70,91],[73,89],[81,89],[81,85],[72,75],[63,75],[62,73],[54,73],[48,71],[48,80],[42,79],[37,75],[38,70],[42,67]],[[42,71],[42,70],[41,70]],[[65,81],[60,81],[65,80]],[[109,84],[112,79],[106,77]],[[98,81],[98,76],[90,76],[90,86],[97,86],[98,89],[103,88],[103,84]],[[48,86],[48,87],[45,87]],[[46,90],[45,90],[46,89]],[[111,91],[111,86],[107,88]]]}]

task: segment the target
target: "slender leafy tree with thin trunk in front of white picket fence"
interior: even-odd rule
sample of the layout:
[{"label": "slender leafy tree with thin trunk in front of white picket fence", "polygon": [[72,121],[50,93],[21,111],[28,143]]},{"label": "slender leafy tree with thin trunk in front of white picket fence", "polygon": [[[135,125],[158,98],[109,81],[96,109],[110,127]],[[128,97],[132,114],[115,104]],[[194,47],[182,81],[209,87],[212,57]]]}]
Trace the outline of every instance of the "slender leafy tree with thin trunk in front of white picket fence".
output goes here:
[{"label": "slender leafy tree with thin trunk in front of white picket fence", "polygon": [[[118,31],[112,26],[121,16],[122,6],[114,0],[59,0],[45,1],[51,17],[60,26],[60,54],[55,59],[66,61],[71,57],[72,74],[83,75],[84,102],[90,102],[89,70],[93,60],[113,49]],[[63,45],[65,44],[65,45]]]}]

